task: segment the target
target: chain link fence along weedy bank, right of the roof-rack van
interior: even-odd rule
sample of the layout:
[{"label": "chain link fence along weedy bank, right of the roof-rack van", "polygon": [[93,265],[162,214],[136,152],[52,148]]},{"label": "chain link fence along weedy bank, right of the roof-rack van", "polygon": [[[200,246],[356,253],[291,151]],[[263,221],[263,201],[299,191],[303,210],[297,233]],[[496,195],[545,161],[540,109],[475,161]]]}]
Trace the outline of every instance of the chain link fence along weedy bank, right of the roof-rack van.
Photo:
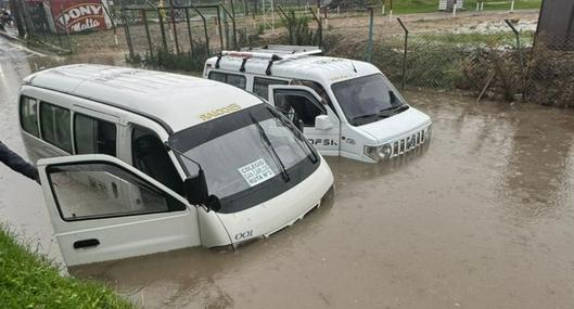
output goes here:
[{"label": "chain link fence along weedy bank, right of the roof-rack van", "polygon": [[[397,23],[399,23],[397,21]],[[489,30],[441,29],[374,35],[326,34],[329,55],[371,60],[403,89],[465,90],[483,98],[574,106],[574,46],[500,21]],[[362,38],[358,35],[362,33]],[[367,37],[367,40],[365,39]],[[357,39],[359,38],[359,39]]]}]

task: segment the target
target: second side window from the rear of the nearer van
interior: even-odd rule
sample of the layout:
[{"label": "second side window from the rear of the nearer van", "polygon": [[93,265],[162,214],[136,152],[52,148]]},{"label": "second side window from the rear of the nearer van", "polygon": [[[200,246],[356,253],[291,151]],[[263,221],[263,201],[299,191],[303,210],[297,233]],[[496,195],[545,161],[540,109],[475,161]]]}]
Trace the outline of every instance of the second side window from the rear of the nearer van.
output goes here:
[{"label": "second side window from the rear of the nearer van", "polygon": [[40,129],[42,139],[52,145],[72,153],[69,111],[40,102]]}]

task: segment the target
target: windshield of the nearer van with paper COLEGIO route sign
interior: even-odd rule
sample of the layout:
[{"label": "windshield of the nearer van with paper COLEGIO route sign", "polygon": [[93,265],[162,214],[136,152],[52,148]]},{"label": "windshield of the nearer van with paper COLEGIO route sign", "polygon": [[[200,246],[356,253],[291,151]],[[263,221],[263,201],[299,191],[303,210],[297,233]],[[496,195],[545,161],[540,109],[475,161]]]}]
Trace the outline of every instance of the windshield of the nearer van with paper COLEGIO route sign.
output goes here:
[{"label": "windshield of the nearer van with paper COLEGIO route sign", "polygon": [[219,213],[240,211],[294,186],[317,168],[318,155],[286,118],[267,103],[173,134],[171,147],[188,176],[201,164]]}]

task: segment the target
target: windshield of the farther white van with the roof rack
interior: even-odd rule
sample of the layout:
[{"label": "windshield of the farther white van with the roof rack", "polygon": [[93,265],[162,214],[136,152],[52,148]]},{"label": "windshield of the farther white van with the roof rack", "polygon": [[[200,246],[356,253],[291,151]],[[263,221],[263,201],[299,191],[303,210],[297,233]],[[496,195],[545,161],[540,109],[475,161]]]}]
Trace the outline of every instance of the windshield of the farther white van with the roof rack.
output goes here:
[{"label": "windshield of the farther white van with the roof rack", "polygon": [[336,82],[331,89],[353,126],[374,123],[409,108],[381,74]]}]

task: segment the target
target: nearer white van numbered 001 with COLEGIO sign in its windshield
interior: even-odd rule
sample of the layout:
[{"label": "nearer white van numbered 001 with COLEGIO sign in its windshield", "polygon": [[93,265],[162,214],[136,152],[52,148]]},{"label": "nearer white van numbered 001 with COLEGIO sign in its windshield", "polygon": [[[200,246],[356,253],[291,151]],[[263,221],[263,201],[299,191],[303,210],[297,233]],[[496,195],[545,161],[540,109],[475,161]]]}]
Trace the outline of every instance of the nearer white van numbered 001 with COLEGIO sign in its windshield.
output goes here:
[{"label": "nearer white van numbered 001 with COLEGIO sign in its windshield", "polygon": [[68,266],[268,236],[333,184],[289,119],[201,78],[47,69],[24,79],[20,120]]}]

